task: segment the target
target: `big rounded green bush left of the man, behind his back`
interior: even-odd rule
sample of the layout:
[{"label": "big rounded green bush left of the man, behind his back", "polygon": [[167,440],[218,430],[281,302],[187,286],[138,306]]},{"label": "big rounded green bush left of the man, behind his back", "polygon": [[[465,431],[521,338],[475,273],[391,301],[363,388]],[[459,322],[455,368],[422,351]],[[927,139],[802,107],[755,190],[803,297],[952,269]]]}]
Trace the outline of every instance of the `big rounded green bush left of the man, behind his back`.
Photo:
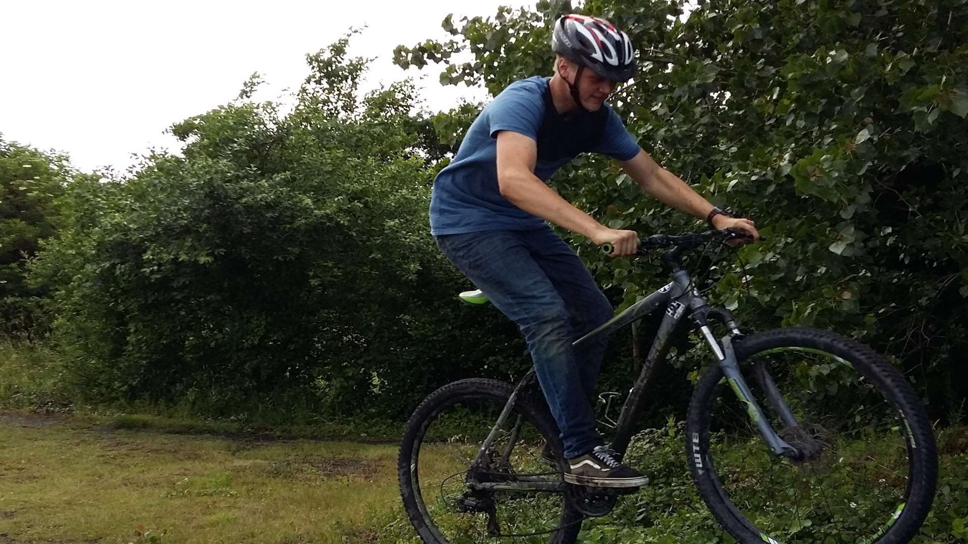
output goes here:
[{"label": "big rounded green bush left of the man, behind his back", "polygon": [[253,102],[253,77],[171,128],[183,157],[68,184],[32,274],[81,398],[400,418],[445,381],[525,364],[505,364],[507,323],[456,302],[468,284],[429,234],[437,152],[412,87],[359,98],[347,44],[307,57],[290,111]]}]

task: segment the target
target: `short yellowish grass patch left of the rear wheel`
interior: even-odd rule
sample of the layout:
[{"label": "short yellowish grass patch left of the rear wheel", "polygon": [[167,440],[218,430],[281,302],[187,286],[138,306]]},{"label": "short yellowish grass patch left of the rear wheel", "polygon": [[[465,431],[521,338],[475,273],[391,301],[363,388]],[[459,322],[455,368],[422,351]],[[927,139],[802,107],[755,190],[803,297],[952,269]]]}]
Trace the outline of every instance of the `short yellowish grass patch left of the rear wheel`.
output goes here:
[{"label": "short yellowish grass patch left of the rear wheel", "polygon": [[168,435],[9,411],[0,433],[5,544],[368,542],[402,515],[395,444]]}]

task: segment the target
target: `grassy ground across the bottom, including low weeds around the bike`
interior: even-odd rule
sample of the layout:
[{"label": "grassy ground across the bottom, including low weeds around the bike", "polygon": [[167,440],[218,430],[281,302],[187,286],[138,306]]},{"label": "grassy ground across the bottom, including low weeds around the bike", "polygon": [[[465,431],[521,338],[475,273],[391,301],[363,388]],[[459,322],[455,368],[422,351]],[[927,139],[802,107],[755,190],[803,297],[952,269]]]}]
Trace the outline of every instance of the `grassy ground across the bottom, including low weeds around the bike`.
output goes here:
[{"label": "grassy ground across the bottom, including low weeds around the bike", "polygon": [[[400,422],[90,408],[54,361],[43,344],[0,340],[0,544],[419,542],[397,489]],[[681,425],[639,438],[627,458],[650,486],[587,522],[579,541],[731,542],[689,478]],[[939,430],[938,444],[938,495],[913,544],[968,541],[968,428]],[[450,474],[445,461],[427,455],[421,469]]]}]

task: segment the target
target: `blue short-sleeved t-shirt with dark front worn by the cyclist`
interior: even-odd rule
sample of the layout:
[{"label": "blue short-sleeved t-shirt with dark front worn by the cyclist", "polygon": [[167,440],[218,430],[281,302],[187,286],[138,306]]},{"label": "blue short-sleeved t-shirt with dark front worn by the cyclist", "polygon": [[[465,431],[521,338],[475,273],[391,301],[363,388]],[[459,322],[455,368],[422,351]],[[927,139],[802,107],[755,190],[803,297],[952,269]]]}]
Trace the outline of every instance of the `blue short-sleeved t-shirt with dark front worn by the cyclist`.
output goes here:
[{"label": "blue short-sleeved t-shirt with dark front worn by the cyclist", "polygon": [[534,139],[538,157],[534,175],[547,181],[579,153],[590,151],[628,161],[639,144],[607,104],[572,119],[558,115],[547,77],[520,79],[507,86],[470,125],[454,160],[437,174],[430,200],[431,233],[524,230],[544,220],[512,204],[498,189],[498,132]]}]

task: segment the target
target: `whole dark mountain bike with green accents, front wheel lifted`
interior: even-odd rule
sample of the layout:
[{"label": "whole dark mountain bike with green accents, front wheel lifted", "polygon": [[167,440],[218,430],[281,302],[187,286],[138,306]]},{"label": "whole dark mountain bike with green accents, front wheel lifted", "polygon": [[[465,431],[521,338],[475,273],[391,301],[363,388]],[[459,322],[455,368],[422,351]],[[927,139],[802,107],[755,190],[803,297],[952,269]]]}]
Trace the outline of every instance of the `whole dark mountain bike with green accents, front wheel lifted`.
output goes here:
[{"label": "whole dark mountain bike with green accents, front wheel lifted", "polygon": [[[937,479],[935,440],[908,380],[884,357],[810,328],[745,335],[711,307],[683,266],[686,252],[746,236],[737,229],[653,235],[672,281],[585,337],[663,312],[616,422],[625,454],[669,338],[688,324],[711,359],[685,422],[685,461],[699,496],[744,544],[908,542]],[[464,293],[484,302],[483,293]],[[718,338],[713,326],[724,332]],[[533,369],[516,384],[469,378],[440,387],[413,412],[400,448],[401,495],[427,543],[575,542],[633,490],[567,484],[559,430]]]}]

